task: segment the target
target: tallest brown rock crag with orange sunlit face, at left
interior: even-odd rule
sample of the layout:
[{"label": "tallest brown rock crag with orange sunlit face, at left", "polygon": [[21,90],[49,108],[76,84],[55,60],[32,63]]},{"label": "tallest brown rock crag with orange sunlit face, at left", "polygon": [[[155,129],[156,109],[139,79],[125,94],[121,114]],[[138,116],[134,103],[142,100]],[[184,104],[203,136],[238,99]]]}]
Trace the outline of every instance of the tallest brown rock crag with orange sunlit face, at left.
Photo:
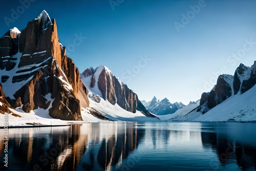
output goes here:
[{"label": "tallest brown rock crag with orange sunlit face, at left", "polygon": [[[80,106],[89,106],[86,87],[66,48],[59,44],[55,19],[42,11],[16,38],[6,35],[0,46],[10,44],[10,51],[0,51],[1,82],[11,105],[21,101],[25,112],[43,108],[54,118],[82,120]],[[10,43],[16,41],[18,53],[13,50],[16,44]],[[6,58],[15,63],[11,70]]]}]

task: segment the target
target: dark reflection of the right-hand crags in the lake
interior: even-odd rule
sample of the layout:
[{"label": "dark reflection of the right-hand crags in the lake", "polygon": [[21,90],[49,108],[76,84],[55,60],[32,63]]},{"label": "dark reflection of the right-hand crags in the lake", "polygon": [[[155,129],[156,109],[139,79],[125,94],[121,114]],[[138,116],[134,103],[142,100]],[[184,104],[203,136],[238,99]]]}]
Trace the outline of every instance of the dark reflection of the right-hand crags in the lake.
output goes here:
[{"label": "dark reflection of the right-hand crags in the lake", "polygon": [[[204,148],[216,152],[218,164],[237,164],[243,170],[256,170],[256,144],[251,145],[252,143],[246,143],[246,139],[240,141],[228,133],[216,133],[214,130],[201,132],[201,138]],[[218,164],[213,167],[217,168]]]}]

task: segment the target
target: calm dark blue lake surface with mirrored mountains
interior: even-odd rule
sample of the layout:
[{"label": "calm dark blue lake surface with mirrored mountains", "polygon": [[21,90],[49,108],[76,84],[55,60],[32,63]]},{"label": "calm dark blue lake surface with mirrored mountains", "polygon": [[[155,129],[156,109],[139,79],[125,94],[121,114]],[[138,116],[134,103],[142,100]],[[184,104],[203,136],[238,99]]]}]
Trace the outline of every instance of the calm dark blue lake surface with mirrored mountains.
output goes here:
[{"label": "calm dark blue lake surface with mirrored mountains", "polygon": [[0,130],[0,170],[256,170],[256,123],[126,122]]}]

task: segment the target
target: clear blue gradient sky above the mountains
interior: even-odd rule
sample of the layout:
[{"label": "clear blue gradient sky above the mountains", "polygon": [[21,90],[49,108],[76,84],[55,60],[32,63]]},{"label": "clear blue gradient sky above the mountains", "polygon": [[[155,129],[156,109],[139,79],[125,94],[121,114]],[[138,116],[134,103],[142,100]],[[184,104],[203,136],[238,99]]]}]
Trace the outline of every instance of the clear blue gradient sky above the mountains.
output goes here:
[{"label": "clear blue gradient sky above the mountains", "polygon": [[141,100],[198,100],[217,75],[256,56],[253,0],[2,0],[1,7],[0,34],[22,31],[46,10],[80,72],[105,65]]}]

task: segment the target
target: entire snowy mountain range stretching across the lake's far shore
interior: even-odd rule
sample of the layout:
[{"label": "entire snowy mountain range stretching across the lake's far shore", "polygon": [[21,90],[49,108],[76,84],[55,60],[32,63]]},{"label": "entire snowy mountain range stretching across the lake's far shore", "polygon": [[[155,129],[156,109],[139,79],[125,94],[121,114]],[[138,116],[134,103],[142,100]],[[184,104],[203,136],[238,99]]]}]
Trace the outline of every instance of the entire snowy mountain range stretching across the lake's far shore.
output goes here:
[{"label": "entire snowy mountain range stretching across the lake's far shore", "polygon": [[80,74],[45,10],[21,32],[13,28],[0,38],[0,70],[0,113],[15,117],[43,112],[76,121],[256,120],[256,61],[220,75],[210,92],[187,106],[167,98],[140,101],[106,66]]}]

